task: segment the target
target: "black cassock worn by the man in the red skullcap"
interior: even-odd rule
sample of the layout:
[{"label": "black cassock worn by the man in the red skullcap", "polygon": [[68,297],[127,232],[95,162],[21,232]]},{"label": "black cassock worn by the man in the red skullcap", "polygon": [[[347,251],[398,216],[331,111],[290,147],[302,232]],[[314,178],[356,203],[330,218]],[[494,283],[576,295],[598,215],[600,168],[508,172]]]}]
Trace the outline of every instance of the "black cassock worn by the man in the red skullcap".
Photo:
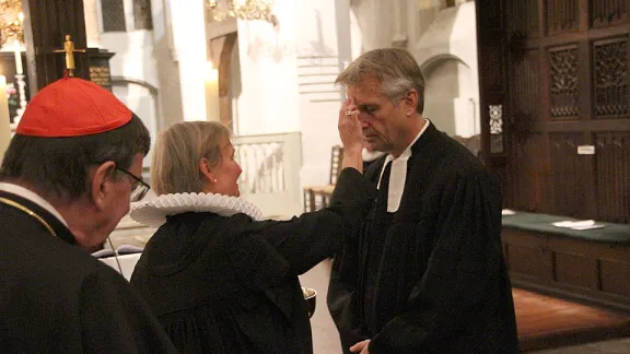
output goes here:
[{"label": "black cassock worn by the man in the red skullcap", "polygon": [[1,353],[175,353],[131,285],[75,246],[37,204],[0,191],[39,215],[0,203]]}]

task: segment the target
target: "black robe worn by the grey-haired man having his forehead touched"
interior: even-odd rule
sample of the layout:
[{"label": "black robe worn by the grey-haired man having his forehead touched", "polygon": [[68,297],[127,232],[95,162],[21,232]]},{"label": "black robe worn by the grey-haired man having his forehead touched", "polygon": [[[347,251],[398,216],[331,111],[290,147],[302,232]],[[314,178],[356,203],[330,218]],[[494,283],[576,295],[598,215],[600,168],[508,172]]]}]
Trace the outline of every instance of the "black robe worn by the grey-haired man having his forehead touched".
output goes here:
[{"label": "black robe worn by the grey-haired man having his forehead touched", "polygon": [[[499,184],[433,125],[411,151],[398,211],[382,184],[335,258],[327,300],[343,350],[371,339],[371,354],[516,353]],[[374,186],[384,162],[365,173]]]}]

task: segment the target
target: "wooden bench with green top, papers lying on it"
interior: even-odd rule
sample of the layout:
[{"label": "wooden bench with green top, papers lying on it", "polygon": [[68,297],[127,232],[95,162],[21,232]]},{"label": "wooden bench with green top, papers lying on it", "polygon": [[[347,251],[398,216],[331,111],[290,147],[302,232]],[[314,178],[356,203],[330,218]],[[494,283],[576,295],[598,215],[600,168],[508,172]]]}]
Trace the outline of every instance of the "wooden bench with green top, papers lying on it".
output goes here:
[{"label": "wooden bench with green top, papers lying on it", "polygon": [[512,283],[555,296],[630,309],[630,225],[574,231],[570,217],[503,216],[503,252]]}]

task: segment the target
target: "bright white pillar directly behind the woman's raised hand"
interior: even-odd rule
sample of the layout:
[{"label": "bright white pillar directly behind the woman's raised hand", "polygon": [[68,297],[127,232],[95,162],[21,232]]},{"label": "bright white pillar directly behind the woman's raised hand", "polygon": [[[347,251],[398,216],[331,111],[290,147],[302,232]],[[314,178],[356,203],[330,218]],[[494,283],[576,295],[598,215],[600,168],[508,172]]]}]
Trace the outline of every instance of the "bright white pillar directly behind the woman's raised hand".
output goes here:
[{"label": "bright white pillar directly behind the woman's raised hand", "polygon": [[[343,61],[351,58],[343,43],[345,35],[337,24],[350,22],[350,13],[343,11],[343,0],[299,1],[298,28],[298,81],[300,92],[300,129],[302,131],[302,184],[324,185],[330,174],[330,151],[340,144],[337,130],[338,111],[342,94],[334,82]],[[338,40],[341,40],[339,43]],[[345,59],[343,52],[349,52]],[[350,48],[351,49],[351,48]]]}]

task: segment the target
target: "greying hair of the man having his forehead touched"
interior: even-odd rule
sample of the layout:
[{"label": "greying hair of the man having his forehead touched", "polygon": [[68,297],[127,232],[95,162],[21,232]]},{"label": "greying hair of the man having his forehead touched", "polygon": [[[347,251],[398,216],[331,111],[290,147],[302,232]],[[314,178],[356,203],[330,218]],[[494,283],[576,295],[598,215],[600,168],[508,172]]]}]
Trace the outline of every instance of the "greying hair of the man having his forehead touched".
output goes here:
[{"label": "greying hair of the man having his forehead touched", "polygon": [[364,52],[337,76],[335,83],[354,85],[365,78],[378,79],[381,91],[393,102],[415,88],[418,92],[416,111],[422,114],[424,110],[424,78],[409,51],[383,48]]}]

